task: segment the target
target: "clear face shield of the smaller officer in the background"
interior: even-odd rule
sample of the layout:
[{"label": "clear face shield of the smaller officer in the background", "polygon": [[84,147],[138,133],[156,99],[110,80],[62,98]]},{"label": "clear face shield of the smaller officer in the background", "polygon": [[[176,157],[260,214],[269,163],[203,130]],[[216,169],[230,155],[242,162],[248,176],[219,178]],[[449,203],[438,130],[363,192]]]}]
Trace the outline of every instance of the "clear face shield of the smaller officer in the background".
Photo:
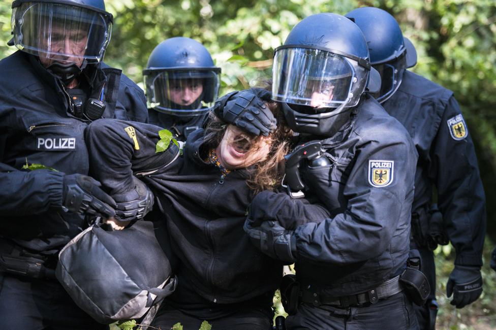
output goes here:
[{"label": "clear face shield of the smaller officer in the background", "polygon": [[145,70],[148,106],[179,116],[208,112],[219,94],[220,69]]}]

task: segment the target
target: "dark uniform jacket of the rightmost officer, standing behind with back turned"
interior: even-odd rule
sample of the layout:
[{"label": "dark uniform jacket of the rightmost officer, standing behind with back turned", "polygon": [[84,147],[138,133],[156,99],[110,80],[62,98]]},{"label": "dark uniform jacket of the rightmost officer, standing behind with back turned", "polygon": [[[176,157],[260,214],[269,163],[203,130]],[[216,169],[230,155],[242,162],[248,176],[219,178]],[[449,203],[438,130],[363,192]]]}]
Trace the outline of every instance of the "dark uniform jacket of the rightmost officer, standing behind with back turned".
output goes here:
[{"label": "dark uniform jacket of the rightmost officer, standing behind with back turned", "polygon": [[[485,196],[472,137],[453,92],[406,71],[398,90],[383,104],[409,131],[419,154],[412,211],[428,231],[426,209],[432,187],[456,265],[482,266]],[[422,235],[422,236],[423,236]]]}]

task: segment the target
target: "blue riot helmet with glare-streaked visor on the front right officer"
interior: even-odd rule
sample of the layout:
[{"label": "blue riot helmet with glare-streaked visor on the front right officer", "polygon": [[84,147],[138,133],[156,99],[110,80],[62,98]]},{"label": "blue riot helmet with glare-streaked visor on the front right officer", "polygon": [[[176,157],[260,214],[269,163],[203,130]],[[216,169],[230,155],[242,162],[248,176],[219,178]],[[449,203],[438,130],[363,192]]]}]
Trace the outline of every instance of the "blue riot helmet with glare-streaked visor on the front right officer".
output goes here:
[{"label": "blue riot helmet with glare-streaked visor on the front right officer", "polygon": [[298,133],[332,136],[350,120],[366,91],[379,90],[367,43],[348,18],[330,13],[309,16],[277,47],[272,98]]}]

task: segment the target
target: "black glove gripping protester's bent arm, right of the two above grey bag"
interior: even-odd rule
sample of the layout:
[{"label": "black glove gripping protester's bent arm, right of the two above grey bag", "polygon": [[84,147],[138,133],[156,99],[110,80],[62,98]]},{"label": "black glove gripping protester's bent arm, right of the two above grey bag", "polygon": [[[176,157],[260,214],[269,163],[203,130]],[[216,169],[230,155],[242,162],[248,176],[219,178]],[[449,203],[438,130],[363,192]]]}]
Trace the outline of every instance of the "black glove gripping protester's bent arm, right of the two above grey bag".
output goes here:
[{"label": "black glove gripping protester's bent arm, right of the two above grey bag", "polygon": [[112,195],[117,203],[115,207],[115,218],[120,221],[131,221],[143,219],[153,207],[153,193],[136,177],[133,177],[134,189]]}]

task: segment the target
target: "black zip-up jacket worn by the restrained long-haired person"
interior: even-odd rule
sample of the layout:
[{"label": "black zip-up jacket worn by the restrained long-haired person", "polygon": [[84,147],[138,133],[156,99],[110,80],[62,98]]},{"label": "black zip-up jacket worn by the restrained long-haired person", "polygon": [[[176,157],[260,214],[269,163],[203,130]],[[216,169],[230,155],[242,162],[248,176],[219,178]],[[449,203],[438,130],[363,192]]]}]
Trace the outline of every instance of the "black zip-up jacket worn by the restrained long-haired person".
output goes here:
[{"label": "black zip-up jacket worn by the restrained long-haired person", "polygon": [[260,252],[243,230],[253,197],[247,170],[222,180],[219,168],[203,160],[208,151],[202,147],[203,129],[188,137],[182,155],[172,143],[156,153],[159,129],[105,119],[89,125],[86,140],[95,176],[111,194],[131,189],[133,173],[152,189],[154,210],[163,213],[172,251],[180,259],[179,283],[219,304],[275,290],[282,263]]}]

